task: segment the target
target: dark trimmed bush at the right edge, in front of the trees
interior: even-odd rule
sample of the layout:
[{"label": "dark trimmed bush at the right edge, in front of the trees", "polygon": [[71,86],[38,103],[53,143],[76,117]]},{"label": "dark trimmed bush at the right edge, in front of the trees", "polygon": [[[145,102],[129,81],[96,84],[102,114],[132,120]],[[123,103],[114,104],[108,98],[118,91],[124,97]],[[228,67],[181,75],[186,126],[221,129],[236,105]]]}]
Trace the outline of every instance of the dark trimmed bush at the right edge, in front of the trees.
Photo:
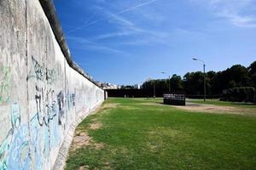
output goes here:
[{"label": "dark trimmed bush at the right edge, in front of the trees", "polygon": [[224,90],[220,100],[232,102],[256,102],[256,91],[253,87],[230,88]]}]

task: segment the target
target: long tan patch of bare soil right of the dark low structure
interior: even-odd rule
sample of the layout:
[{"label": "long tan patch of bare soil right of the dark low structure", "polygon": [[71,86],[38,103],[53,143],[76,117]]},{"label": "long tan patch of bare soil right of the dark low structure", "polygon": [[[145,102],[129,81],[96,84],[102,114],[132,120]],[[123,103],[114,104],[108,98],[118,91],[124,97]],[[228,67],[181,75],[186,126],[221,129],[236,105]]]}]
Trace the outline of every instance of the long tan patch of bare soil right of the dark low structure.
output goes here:
[{"label": "long tan patch of bare soil right of the dark low structure", "polygon": [[250,115],[256,116],[255,109],[237,108],[232,106],[220,106],[220,105],[194,105],[189,104],[185,106],[174,105],[178,109],[192,112],[207,112],[207,113],[218,113],[218,114],[236,114],[236,115]]}]

